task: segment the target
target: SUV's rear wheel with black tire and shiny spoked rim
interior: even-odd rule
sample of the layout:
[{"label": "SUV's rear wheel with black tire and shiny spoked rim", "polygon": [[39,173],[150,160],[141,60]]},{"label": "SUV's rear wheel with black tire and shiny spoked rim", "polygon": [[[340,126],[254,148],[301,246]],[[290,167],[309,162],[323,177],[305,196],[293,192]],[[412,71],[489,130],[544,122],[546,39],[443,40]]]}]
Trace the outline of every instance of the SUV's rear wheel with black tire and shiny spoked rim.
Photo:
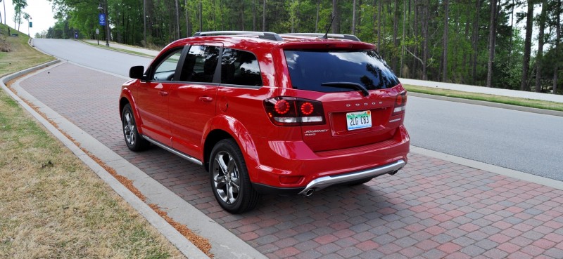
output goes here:
[{"label": "SUV's rear wheel with black tire and shiny spoked rim", "polygon": [[209,172],[211,190],[225,211],[238,214],[258,205],[260,194],[251,185],[244,157],[234,140],[215,144],[209,158]]}]

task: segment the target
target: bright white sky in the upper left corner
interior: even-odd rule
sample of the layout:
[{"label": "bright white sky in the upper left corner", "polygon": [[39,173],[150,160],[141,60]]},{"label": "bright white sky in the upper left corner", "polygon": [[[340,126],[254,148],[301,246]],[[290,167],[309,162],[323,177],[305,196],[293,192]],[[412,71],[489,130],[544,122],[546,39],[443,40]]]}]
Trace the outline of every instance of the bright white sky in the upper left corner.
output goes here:
[{"label": "bright white sky in the upper left corner", "polygon": [[[0,12],[2,15],[2,22],[4,23],[4,4],[6,4],[6,24],[13,27],[13,5],[12,0],[2,0],[0,3]],[[25,13],[31,16],[32,28],[29,29],[30,36],[34,36],[37,32],[46,31],[49,27],[55,25],[56,20],[53,18],[53,8],[51,3],[47,0],[27,0],[27,6],[23,9]],[[16,26],[16,29],[18,26]],[[27,21],[23,20],[20,25],[20,32],[27,33]]]}]

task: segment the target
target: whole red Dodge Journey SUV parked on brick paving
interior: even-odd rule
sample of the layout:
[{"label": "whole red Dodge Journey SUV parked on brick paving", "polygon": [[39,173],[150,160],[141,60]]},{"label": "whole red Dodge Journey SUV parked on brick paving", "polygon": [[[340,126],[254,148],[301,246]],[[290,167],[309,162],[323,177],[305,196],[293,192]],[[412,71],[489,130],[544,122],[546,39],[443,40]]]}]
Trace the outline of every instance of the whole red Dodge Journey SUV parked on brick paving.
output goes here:
[{"label": "whole red Dodge Journey SUV parked on brick paving", "polygon": [[217,202],[358,185],[407,163],[407,95],[353,35],[199,32],[122,86],[130,150],[150,143],[205,166]]}]

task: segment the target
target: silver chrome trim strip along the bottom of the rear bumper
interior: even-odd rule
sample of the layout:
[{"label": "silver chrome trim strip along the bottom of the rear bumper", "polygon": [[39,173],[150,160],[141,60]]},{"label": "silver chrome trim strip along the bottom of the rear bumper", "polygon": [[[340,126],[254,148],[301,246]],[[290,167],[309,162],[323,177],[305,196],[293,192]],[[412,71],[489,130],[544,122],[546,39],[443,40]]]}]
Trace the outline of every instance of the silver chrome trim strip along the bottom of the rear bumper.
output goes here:
[{"label": "silver chrome trim strip along the bottom of the rear bumper", "polygon": [[360,179],[365,179],[365,178],[374,178],[377,177],[379,175],[384,175],[386,173],[393,173],[394,171],[399,170],[400,168],[403,168],[403,166],[405,166],[405,161],[403,159],[393,162],[391,164],[386,164],[385,166],[379,166],[377,168],[371,168],[371,169],[367,169],[364,171],[358,171],[358,172],[353,172],[353,173],[346,173],[346,174],[342,174],[342,175],[330,175],[330,176],[324,176],[322,178],[317,178],[315,180],[312,180],[311,182],[309,182],[309,184],[307,185],[307,187],[305,187],[305,189],[303,189],[303,191],[299,192],[299,194],[305,194],[307,193],[308,190],[311,189],[315,189],[315,191],[317,190],[322,190],[326,187],[329,187],[331,185],[336,185],[339,183],[343,183],[343,182],[350,182],[353,180],[360,180]]}]

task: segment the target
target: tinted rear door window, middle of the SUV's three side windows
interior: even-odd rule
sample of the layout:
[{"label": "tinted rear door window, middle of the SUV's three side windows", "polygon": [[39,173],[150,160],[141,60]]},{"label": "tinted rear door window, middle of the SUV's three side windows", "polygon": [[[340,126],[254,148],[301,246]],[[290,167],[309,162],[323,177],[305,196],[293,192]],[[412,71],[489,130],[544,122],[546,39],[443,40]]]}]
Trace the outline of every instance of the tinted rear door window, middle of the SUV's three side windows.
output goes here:
[{"label": "tinted rear door window, middle of the SUV's three side windows", "polygon": [[191,46],[182,67],[180,81],[213,82],[219,50],[217,46]]}]

